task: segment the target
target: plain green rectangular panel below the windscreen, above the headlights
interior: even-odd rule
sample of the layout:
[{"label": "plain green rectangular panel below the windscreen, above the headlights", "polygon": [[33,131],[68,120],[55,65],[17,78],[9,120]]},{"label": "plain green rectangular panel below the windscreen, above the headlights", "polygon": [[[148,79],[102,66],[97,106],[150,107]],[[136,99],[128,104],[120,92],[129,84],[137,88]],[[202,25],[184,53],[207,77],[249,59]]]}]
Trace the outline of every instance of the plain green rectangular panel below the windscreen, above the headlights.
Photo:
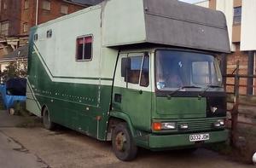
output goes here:
[{"label": "plain green rectangular panel below the windscreen, above the headlights", "polygon": [[155,97],[157,119],[205,118],[207,113],[206,98],[198,97]]}]

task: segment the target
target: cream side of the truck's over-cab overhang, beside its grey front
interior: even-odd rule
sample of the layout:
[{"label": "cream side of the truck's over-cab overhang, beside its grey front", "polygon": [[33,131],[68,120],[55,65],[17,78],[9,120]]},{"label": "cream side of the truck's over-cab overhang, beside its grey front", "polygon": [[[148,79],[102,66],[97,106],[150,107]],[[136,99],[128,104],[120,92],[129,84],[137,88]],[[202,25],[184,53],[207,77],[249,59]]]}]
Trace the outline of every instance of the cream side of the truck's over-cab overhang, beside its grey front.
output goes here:
[{"label": "cream side of the truck's over-cab overhang, beside its grey front", "polygon": [[102,7],[104,46],[146,40],[143,0],[111,0]]}]

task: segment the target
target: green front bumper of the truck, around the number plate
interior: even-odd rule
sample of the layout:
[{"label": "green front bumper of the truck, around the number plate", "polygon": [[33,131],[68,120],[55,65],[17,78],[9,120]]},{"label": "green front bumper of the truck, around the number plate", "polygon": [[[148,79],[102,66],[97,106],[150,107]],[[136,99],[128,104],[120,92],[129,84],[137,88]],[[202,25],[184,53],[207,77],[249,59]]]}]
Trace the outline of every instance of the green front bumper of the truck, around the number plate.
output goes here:
[{"label": "green front bumper of the truck, around the number plate", "polygon": [[[210,139],[203,142],[189,142],[189,135],[191,134],[204,134],[207,133]],[[228,130],[218,130],[218,131],[206,131],[198,133],[187,133],[178,135],[149,135],[148,147],[150,149],[160,149],[160,148],[186,148],[191,146],[196,146],[198,143],[215,143],[215,142],[225,142],[228,139]]]}]

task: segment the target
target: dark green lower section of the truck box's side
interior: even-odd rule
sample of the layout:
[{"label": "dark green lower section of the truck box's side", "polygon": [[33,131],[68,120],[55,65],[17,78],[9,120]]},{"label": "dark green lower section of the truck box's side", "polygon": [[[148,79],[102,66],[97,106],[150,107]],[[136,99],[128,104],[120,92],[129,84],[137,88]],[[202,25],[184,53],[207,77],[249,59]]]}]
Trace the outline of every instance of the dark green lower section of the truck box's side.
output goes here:
[{"label": "dark green lower section of the truck box's side", "polygon": [[[39,56],[34,50],[30,50],[28,81],[40,105],[49,108],[50,117],[55,123],[104,140],[111,86],[53,82]],[[95,79],[96,83],[99,80],[91,79]],[[101,119],[97,120],[96,116],[101,116]]]}]

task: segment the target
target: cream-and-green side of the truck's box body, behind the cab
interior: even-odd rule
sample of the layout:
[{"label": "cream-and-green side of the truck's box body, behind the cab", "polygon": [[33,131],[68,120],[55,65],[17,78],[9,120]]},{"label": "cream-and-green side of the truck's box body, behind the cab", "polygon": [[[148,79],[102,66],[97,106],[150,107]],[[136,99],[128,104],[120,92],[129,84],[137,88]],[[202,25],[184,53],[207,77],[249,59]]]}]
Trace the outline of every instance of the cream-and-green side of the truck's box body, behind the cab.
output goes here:
[{"label": "cream-and-green side of the truck's box body, behind the cab", "polygon": [[[91,9],[32,29],[26,104],[38,116],[45,105],[55,123],[105,140],[117,51],[102,49],[100,14]],[[76,39],[87,34],[93,36],[92,60],[76,61]]]}]

